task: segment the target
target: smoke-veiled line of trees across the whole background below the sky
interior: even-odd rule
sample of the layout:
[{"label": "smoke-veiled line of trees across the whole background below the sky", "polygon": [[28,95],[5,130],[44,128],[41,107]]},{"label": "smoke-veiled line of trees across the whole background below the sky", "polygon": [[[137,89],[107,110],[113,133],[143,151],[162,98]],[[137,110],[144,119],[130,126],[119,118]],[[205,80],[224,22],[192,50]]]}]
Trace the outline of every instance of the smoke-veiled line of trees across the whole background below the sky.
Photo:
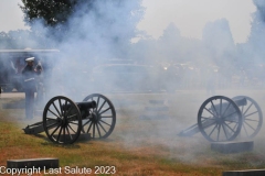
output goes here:
[{"label": "smoke-veiled line of trees across the whole background below the sky", "polygon": [[[246,43],[235,44],[227,20],[209,22],[202,38],[181,36],[171,23],[158,40],[138,31],[145,9],[141,0],[22,0],[24,22],[30,30],[0,32],[0,48],[73,48],[89,57],[120,57],[150,63],[214,64],[246,67],[263,62],[265,55],[264,9],[253,0],[252,31]],[[139,37],[138,42],[131,38]],[[77,42],[76,42],[77,41]]]}]

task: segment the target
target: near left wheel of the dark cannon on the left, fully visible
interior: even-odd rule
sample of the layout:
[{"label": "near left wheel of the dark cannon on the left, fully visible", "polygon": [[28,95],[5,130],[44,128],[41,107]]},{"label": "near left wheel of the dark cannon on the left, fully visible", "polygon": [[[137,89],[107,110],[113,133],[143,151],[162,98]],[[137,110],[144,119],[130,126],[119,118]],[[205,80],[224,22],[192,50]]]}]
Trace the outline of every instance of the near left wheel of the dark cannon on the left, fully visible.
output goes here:
[{"label": "near left wheel of the dark cannon on the left, fully visible", "polygon": [[74,143],[82,129],[81,112],[76,103],[63,96],[52,98],[43,111],[43,128],[52,142]]}]

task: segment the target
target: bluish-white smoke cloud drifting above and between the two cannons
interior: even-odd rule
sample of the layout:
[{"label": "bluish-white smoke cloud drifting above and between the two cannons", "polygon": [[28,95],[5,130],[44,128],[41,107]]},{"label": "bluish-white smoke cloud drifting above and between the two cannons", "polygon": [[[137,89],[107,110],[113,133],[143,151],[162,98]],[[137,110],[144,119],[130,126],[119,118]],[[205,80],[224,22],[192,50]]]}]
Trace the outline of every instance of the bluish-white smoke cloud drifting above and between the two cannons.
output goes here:
[{"label": "bluish-white smoke cloud drifting above and between the two cannons", "polygon": [[[142,16],[139,1],[96,1],[94,9],[87,13],[83,13],[83,6],[80,4],[68,20],[71,32],[60,43],[55,42],[53,37],[56,35],[51,34],[42,21],[35,21],[31,30],[46,36],[35,43],[46,42],[46,46],[57,46],[60,50],[60,55],[51,61],[53,72],[46,82],[49,96],[65,95],[82,101],[89,94],[107,94],[117,109],[115,133],[124,139],[125,146],[140,145],[141,140],[149,139],[151,143],[161,143],[174,150],[182,140],[177,134],[197,123],[198,110],[206,98],[223,92],[232,98],[237,92],[230,90],[263,88],[264,77],[258,70],[264,72],[265,2],[253,2],[257,11],[253,14],[248,41],[242,44],[234,43],[225,19],[209,22],[202,40],[181,36],[173,23],[165,29],[158,40],[151,38],[136,30]],[[137,42],[131,42],[136,37]],[[108,64],[110,59],[145,65],[144,72],[150,74],[144,77],[130,74],[128,79],[126,73],[130,67],[97,67]],[[137,69],[140,72],[141,68]],[[114,75],[123,81],[116,82]],[[110,88],[107,85],[109,80],[113,81]],[[145,84],[149,87],[144,87]],[[246,95],[252,97],[250,91]],[[153,99],[161,100],[160,106],[169,110],[159,119],[142,122],[139,117],[147,113],[146,107],[155,107],[156,111],[156,106],[149,101]],[[119,133],[123,129],[119,124],[124,122],[128,132]],[[189,147],[181,150],[184,153],[189,150],[200,152],[200,148],[191,146],[203,143],[201,139],[192,138]],[[176,155],[173,151],[172,154]],[[187,158],[191,155],[190,152]],[[181,157],[184,160],[184,156]]]}]

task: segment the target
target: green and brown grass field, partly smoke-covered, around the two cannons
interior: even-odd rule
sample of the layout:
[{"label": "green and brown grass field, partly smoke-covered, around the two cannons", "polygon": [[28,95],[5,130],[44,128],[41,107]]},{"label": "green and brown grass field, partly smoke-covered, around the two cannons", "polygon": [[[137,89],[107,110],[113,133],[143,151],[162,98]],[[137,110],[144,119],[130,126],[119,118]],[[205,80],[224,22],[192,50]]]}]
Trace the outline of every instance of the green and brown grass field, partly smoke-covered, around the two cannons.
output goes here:
[{"label": "green and brown grass field, partly smoke-covered, around the two cannons", "polygon": [[[220,90],[216,94],[230,98],[248,96],[258,102],[262,110],[265,109],[263,90]],[[25,121],[23,109],[1,109],[0,166],[6,166],[7,160],[57,157],[61,167],[94,169],[95,166],[115,166],[115,175],[124,176],[215,176],[231,169],[265,168],[265,127],[254,139],[253,152],[236,154],[211,151],[211,143],[200,133],[191,138],[178,135],[181,130],[197,123],[198,110],[209,98],[203,90],[106,96],[114,102],[117,112],[112,135],[102,141],[78,141],[64,146],[50,142],[45,133],[38,136],[23,133],[23,128],[42,121],[41,117]],[[23,95],[3,94],[0,106],[21,100]],[[150,105],[149,100],[162,100],[163,103]],[[168,110],[150,112],[146,107],[151,106],[166,106]],[[156,113],[159,116],[151,118]]]}]

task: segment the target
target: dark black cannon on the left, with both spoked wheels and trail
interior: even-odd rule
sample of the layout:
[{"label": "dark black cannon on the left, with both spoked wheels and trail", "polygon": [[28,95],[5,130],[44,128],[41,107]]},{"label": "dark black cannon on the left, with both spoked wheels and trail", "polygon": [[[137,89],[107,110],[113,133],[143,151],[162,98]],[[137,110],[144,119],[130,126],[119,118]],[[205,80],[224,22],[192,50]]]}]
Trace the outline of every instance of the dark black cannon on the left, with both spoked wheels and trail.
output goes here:
[{"label": "dark black cannon on the left, with both spoked wheels and trail", "polygon": [[81,134],[92,139],[108,138],[116,123],[116,111],[109,99],[99,94],[74,102],[67,97],[53,97],[44,107],[42,121],[24,128],[25,134],[46,133],[59,144],[72,144]]}]

